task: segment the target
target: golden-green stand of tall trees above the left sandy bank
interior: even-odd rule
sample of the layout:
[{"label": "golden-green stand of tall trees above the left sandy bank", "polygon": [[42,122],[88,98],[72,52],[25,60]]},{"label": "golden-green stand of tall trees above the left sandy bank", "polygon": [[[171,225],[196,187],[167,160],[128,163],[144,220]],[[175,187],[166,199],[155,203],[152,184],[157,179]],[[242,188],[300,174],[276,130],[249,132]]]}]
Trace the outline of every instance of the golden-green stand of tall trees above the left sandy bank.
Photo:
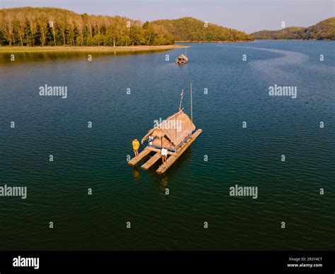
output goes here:
[{"label": "golden-green stand of tall trees above the left sandy bank", "polygon": [[78,14],[61,8],[0,10],[0,45],[116,47],[174,42],[163,26],[121,16]]}]

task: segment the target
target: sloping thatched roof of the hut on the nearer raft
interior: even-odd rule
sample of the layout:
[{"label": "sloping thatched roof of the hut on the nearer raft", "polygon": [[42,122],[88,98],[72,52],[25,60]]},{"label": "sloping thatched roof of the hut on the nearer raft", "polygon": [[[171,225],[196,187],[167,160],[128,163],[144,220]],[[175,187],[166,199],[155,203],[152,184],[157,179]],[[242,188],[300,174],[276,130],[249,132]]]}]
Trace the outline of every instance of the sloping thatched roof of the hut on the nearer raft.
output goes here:
[{"label": "sloping thatched roof of the hut on the nearer raft", "polygon": [[151,129],[146,136],[141,140],[141,143],[148,138],[148,136],[158,136],[165,137],[168,141],[174,143],[176,146],[179,145],[185,137],[194,131],[195,126],[191,119],[184,114],[182,110],[177,112],[170,117],[167,117],[161,124],[157,127]]}]

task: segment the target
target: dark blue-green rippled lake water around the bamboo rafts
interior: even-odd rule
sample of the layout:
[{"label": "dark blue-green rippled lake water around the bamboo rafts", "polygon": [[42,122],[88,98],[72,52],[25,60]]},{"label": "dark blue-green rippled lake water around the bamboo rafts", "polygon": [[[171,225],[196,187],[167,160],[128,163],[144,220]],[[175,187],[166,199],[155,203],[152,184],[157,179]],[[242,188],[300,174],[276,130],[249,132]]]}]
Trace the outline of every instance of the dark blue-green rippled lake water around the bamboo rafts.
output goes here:
[{"label": "dark blue-green rippled lake water around the bamboo rafts", "polygon": [[[1,250],[335,249],[335,42],[190,45],[183,66],[184,49],[1,55],[0,186],[28,186],[0,197]],[[128,167],[182,89],[189,113],[190,82],[203,133],[163,176]],[[68,97],[39,96],[45,84]],[[235,184],[258,198],[230,196]]]}]

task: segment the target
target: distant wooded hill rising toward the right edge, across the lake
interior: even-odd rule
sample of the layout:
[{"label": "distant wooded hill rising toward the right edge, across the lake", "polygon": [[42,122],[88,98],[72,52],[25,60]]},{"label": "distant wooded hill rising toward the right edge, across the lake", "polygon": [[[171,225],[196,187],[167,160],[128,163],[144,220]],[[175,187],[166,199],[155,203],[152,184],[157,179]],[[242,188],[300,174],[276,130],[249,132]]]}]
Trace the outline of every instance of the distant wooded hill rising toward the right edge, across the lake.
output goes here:
[{"label": "distant wooded hill rising toward the right edge, across the lake", "polygon": [[305,39],[305,40],[335,40],[335,17],[323,20],[308,28],[290,27],[283,30],[261,30],[253,32],[257,40],[268,39]]}]

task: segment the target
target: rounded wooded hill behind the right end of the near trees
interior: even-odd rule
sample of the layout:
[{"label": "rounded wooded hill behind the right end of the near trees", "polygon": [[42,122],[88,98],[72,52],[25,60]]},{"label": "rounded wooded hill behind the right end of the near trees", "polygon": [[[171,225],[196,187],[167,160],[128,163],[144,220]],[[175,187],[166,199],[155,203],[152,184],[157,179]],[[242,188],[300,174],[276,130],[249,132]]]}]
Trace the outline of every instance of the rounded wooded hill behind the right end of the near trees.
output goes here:
[{"label": "rounded wooded hill behind the right end of the near trees", "polygon": [[172,20],[155,20],[154,25],[163,26],[175,37],[175,41],[252,41],[251,35],[240,30],[224,28],[220,25],[208,23],[192,17],[183,17]]}]

